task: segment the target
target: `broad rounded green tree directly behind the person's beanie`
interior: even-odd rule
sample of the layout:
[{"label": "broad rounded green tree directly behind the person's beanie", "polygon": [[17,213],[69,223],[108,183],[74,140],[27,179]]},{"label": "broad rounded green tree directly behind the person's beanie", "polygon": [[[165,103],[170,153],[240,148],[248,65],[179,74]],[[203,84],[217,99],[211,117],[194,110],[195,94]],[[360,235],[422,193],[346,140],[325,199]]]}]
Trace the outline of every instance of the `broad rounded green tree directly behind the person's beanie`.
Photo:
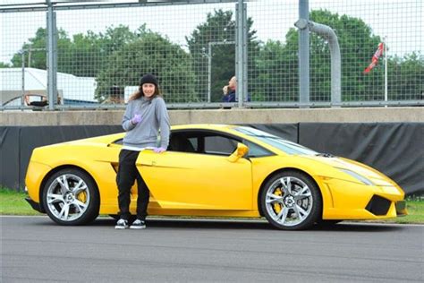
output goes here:
[{"label": "broad rounded green tree directly behind the person's beanie", "polygon": [[112,86],[139,85],[143,73],[157,75],[166,102],[198,101],[191,57],[169,39],[148,30],[108,57],[105,68],[98,75],[96,99],[106,99]]}]

